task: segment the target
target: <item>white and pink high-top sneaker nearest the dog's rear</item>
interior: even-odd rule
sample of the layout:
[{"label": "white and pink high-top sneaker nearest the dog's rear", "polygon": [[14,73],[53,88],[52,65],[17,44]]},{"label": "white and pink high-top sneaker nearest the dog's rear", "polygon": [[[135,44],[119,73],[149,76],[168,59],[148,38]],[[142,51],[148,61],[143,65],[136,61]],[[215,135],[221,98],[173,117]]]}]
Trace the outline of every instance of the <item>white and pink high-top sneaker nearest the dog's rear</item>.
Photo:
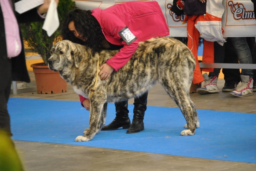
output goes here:
[{"label": "white and pink high-top sneaker nearest the dog's rear", "polygon": [[218,78],[216,76],[209,78],[207,73],[203,74],[204,77],[204,87],[198,88],[196,90],[196,93],[198,94],[210,94],[210,93],[218,93],[220,90],[218,90],[217,81]]}]

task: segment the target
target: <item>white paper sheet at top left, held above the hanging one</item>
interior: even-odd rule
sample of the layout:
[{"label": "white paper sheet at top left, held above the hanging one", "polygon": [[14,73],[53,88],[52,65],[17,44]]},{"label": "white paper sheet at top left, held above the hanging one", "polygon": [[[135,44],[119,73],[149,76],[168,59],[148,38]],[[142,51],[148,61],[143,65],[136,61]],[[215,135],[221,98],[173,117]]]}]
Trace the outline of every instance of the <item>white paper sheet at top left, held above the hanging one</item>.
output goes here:
[{"label": "white paper sheet at top left, held above the hanging one", "polygon": [[20,0],[15,3],[15,11],[22,14],[23,12],[29,11],[37,6],[40,6],[44,3],[44,0]]}]

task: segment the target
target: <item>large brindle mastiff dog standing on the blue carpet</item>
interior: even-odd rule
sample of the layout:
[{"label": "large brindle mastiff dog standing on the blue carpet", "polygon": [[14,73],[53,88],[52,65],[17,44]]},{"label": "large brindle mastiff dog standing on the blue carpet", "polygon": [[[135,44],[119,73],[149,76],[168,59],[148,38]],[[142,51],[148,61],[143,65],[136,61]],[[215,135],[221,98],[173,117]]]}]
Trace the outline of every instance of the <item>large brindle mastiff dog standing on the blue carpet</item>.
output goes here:
[{"label": "large brindle mastiff dog standing on the blue carpet", "polygon": [[90,48],[67,40],[52,46],[49,69],[59,71],[76,93],[89,98],[96,84],[90,99],[90,128],[84,136],[76,137],[76,141],[90,141],[101,130],[106,118],[106,102],[138,97],[157,82],[180,107],[186,119],[184,128],[187,129],[181,135],[193,135],[199,120],[195,104],[189,97],[196,65],[189,48],[173,38],[151,38],[140,42],[128,63],[112,72],[107,81],[100,80],[96,77],[97,68],[117,52],[119,50],[102,50],[92,55]]}]

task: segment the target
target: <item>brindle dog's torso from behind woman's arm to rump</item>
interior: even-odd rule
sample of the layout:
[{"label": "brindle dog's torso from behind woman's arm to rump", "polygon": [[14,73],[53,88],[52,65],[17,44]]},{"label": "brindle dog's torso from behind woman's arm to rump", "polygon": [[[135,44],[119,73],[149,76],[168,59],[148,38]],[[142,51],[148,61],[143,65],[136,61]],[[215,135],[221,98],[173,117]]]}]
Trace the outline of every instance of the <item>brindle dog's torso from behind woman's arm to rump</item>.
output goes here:
[{"label": "brindle dog's torso from behind woman's arm to rump", "polygon": [[183,83],[181,86],[189,91],[195,65],[192,52],[180,41],[169,37],[151,38],[140,42],[128,63],[102,84],[109,96],[122,98],[140,95],[164,80]]}]

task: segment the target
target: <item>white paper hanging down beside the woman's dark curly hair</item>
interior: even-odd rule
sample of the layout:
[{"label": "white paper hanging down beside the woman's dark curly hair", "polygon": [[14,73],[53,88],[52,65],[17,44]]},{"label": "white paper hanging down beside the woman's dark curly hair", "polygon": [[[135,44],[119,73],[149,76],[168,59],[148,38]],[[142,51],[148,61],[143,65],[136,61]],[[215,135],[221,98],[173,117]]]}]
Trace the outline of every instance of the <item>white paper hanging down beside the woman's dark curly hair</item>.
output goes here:
[{"label": "white paper hanging down beside the woman's dark curly hair", "polygon": [[50,37],[58,29],[59,25],[57,4],[55,0],[51,0],[42,29],[44,29]]}]

